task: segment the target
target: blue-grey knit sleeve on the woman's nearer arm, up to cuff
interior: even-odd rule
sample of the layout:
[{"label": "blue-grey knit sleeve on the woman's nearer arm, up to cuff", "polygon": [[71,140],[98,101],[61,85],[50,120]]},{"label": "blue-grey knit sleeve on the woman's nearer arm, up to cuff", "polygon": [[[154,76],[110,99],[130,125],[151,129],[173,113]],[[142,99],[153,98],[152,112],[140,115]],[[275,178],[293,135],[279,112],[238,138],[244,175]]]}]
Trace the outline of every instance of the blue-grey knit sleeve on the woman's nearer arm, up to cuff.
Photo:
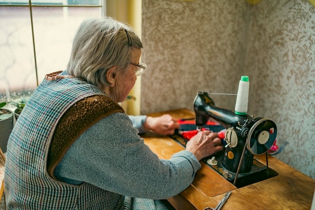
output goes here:
[{"label": "blue-grey knit sleeve on the woman's nearer arm, up to cuff", "polygon": [[137,134],[124,113],[99,121],[69,148],[56,177],[150,199],[169,198],[192,183],[201,167],[192,153],[184,150],[170,160],[159,159]]}]

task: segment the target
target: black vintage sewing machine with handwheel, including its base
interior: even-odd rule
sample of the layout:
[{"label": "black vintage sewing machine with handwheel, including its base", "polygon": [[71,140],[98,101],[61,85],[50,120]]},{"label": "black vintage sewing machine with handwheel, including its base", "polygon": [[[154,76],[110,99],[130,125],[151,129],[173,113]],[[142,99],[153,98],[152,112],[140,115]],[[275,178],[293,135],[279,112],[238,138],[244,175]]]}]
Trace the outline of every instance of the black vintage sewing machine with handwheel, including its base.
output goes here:
[{"label": "black vintage sewing machine with handwheel, including its base", "polygon": [[[197,130],[207,121],[221,124],[225,129],[225,150],[204,159],[210,167],[237,187],[246,186],[278,173],[268,168],[267,151],[276,140],[277,127],[272,119],[237,115],[215,107],[208,92],[198,92],[194,100]],[[254,159],[266,153],[267,166]]]}]

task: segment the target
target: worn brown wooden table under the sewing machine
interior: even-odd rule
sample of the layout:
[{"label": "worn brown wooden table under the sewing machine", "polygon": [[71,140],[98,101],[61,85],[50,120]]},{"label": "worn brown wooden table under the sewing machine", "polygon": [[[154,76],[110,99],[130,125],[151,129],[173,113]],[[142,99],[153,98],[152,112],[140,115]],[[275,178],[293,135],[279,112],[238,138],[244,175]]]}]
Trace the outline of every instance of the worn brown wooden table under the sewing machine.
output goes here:
[{"label": "worn brown wooden table under the sewing machine", "polygon": [[[176,119],[194,117],[194,113],[182,109],[170,112],[154,113],[148,116],[158,117],[170,114]],[[184,150],[184,147],[170,137],[146,134],[144,142],[162,159]],[[254,157],[266,165],[265,154]],[[231,194],[222,209],[310,209],[315,180],[300,173],[272,156],[268,156],[268,165],[278,175],[237,188],[225,180],[208,165],[201,162],[201,169],[196,173],[193,183],[180,194],[168,201],[176,209],[204,209],[215,207],[224,194]]]}]

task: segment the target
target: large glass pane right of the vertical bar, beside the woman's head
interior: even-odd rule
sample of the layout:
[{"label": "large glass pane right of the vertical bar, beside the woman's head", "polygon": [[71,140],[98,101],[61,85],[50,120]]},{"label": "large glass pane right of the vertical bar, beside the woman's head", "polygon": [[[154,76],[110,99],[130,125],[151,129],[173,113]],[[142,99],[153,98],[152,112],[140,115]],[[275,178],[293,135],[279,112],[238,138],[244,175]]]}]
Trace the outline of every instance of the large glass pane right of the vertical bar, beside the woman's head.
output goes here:
[{"label": "large glass pane right of the vertical bar, beside the woman's head", "polygon": [[33,8],[39,83],[45,74],[66,68],[77,28],[84,19],[95,16],[101,16],[100,8]]}]

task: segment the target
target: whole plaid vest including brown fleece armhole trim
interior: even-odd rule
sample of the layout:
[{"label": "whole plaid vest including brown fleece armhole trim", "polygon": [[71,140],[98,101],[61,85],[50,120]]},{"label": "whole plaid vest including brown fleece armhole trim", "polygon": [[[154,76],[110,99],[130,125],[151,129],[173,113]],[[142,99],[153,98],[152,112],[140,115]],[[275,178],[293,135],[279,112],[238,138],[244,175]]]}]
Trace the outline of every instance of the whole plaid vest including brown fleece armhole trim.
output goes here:
[{"label": "whole plaid vest including brown fleece armhole trim", "polygon": [[124,196],[88,183],[66,184],[53,176],[78,136],[99,120],[123,112],[101,89],[82,79],[58,78],[59,73],[46,76],[34,91],[10,136],[5,169],[7,207],[118,209]]}]

